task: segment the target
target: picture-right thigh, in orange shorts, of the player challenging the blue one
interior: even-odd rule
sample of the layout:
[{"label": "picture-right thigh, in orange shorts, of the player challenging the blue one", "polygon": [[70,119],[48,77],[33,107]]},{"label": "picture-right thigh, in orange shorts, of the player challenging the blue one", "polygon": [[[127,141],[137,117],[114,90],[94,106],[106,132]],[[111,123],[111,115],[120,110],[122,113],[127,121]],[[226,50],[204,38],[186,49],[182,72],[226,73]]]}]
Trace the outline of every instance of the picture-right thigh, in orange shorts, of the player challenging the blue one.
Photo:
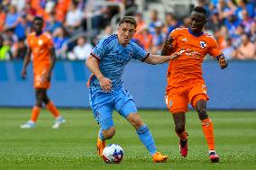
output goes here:
[{"label": "picture-right thigh, in orange shorts, of the player challenging the blue one", "polygon": [[209,100],[207,95],[207,88],[204,83],[198,83],[193,85],[193,87],[188,92],[188,100],[193,108],[196,108],[197,101],[199,100]]}]

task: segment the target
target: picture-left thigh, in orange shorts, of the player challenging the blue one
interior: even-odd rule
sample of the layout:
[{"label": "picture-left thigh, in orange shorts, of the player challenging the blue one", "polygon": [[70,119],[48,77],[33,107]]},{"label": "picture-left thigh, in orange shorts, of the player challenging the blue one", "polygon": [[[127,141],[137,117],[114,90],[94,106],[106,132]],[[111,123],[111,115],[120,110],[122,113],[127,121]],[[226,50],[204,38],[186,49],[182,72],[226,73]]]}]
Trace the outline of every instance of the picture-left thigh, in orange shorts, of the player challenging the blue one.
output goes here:
[{"label": "picture-left thigh, in orange shorts, of the player challenging the blue one", "polygon": [[173,94],[171,91],[166,92],[165,103],[171,113],[187,112],[188,98],[184,93]]}]

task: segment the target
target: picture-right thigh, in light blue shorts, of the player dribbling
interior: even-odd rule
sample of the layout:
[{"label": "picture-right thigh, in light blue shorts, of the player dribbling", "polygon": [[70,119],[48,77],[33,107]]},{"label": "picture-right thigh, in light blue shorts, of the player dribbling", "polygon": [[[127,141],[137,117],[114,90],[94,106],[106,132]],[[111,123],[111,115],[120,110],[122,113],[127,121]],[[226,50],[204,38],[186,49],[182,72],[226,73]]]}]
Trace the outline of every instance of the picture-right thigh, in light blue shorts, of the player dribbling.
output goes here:
[{"label": "picture-right thigh, in light blue shorts, of the player dribbling", "polygon": [[130,113],[138,112],[133,101],[133,96],[124,88],[120,89],[116,94],[114,108],[125,119]]}]

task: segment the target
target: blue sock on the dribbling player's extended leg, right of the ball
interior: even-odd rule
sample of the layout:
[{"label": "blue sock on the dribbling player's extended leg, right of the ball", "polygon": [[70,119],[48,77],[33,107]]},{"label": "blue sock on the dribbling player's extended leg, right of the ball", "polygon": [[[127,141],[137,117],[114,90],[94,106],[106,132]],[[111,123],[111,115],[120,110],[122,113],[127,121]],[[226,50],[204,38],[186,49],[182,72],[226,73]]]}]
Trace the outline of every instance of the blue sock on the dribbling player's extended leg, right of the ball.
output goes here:
[{"label": "blue sock on the dribbling player's extended leg, right of the ball", "polygon": [[151,131],[146,124],[142,125],[138,130],[136,130],[139,138],[141,139],[144,146],[149,150],[151,156],[157,152],[157,148],[152,138]]}]

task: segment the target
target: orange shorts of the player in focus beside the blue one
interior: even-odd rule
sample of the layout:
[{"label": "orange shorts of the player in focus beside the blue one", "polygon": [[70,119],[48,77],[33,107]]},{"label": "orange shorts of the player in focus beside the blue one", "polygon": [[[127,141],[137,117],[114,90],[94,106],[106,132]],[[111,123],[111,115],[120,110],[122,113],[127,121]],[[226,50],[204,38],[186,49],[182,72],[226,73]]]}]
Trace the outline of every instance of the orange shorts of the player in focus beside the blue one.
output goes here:
[{"label": "orange shorts of the player in focus beside the blue one", "polygon": [[166,91],[165,102],[171,113],[187,112],[187,105],[190,103],[193,108],[197,101],[209,100],[204,83],[190,84],[184,87],[171,88]]}]

